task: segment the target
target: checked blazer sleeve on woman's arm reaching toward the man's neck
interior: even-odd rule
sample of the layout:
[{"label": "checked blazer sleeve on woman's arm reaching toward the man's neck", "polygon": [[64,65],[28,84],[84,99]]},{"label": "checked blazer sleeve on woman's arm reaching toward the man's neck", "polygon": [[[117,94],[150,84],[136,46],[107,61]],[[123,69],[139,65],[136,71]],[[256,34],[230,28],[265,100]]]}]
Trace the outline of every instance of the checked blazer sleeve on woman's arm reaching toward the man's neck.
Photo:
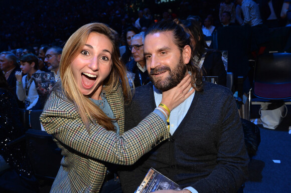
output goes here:
[{"label": "checked blazer sleeve on woman's arm reaching toward the man's neck", "polygon": [[51,94],[40,117],[44,129],[76,153],[116,164],[133,164],[144,153],[169,138],[166,123],[151,113],[136,127],[118,136],[98,124],[87,132],[74,105]]}]

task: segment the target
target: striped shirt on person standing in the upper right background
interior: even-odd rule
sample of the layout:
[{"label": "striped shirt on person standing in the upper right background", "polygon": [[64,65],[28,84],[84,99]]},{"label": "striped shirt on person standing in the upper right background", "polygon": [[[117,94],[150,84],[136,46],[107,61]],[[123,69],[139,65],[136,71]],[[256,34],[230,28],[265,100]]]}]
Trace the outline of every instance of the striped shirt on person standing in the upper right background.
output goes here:
[{"label": "striped shirt on person standing in the upper right background", "polygon": [[257,26],[262,24],[258,5],[251,0],[243,0],[241,5],[244,21],[243,25]]}]

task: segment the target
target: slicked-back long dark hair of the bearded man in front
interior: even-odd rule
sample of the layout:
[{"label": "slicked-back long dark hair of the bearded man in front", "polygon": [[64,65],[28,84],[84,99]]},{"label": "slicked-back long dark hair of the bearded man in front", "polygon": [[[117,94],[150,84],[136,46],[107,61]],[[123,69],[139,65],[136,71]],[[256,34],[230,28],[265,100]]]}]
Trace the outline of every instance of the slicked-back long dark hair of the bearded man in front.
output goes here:
[{"label": "slicked-back long dark hair of the bearded man in front", "polygon": [[186,45],[191,48],[191,60],[186,64],[188,71],[192,73],[192,87],[196,91],[202,91],[202,71],[194,64],[192,58],[194,57],[194,50],[190,44],[190,36],[187,34],[183,27],[176,24],[173,21],[161,21],[153,26],[151,26],[144,34],[144,38],[147,35],[152,35],[156,33],[172,32],[173,40],[176,46],[178,46],[180,53],[182,54],[183,49]]}]

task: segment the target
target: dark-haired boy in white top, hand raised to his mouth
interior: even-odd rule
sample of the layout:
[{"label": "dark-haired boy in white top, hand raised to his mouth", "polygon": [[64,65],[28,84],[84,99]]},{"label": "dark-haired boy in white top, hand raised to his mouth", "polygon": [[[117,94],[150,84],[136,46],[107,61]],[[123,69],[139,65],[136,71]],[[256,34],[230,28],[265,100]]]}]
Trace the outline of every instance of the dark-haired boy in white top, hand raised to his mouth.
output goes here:
[{"label": "dark-haired boy in white top, hand raised to his mouth", "polygon": [[[38,58],[34,54],[25,54],[19,59],[22,71],[15,73],[17,79],[16,93],[20,101],[25,103],[25,109],[42,109],[35,82],[33,80],[34,73],[43,71],[38,70]],[[24,75],[22,77],[23,74]]]}]

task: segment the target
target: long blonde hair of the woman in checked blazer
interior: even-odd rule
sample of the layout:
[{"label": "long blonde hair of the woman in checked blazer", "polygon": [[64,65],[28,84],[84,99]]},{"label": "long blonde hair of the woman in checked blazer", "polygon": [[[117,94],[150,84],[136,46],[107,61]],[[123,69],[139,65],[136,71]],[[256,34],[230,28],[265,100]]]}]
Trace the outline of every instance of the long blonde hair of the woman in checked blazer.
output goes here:
[{"label": "long blonde hair of the woman in checked blazer", "polygon": [[[112,123],[113,119],[107,117],[88,96],[84,96],[79,91],[71,70],[72,61],[82,51],[89,34],[92,32],[97,32],[107,36],[113,45],[112,70],[103,82],[103,90],[108,94],[116,89],[118,83],[121,83],[125,101],[131,99],[130,87],[126,78],[126,69],[119,60],[120,54],[117,33],[102,23],[84,25],[68,39],[64,46],[60,62],[60,78],[62,84],[60,88],[67,99],[74,103],[88,132],[90,132],[90,121],[94,122],[94,120],[107,130],[114,131],[114,125]],[[116,119],[118,119],[118,117],[116,117]]]}]

